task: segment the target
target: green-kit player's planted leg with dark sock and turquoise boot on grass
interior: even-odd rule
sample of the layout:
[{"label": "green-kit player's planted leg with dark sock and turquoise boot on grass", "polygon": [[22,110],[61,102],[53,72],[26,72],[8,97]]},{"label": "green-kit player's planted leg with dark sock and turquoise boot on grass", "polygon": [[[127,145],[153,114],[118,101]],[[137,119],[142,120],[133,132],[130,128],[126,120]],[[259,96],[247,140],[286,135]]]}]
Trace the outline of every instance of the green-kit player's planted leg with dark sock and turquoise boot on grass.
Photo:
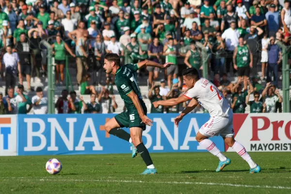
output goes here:
[{"label": "green-kit player's planted leg with dark sock and turquoise boot on grass", "polygon": [[143,129],[140,127],[131,127],[130,136],[133,145],[137,148],[144,162],[146,163],[147,169],[142,173],[143,175],[157,174],[157,170],[150,158],[148,150],[142,140]]}]

